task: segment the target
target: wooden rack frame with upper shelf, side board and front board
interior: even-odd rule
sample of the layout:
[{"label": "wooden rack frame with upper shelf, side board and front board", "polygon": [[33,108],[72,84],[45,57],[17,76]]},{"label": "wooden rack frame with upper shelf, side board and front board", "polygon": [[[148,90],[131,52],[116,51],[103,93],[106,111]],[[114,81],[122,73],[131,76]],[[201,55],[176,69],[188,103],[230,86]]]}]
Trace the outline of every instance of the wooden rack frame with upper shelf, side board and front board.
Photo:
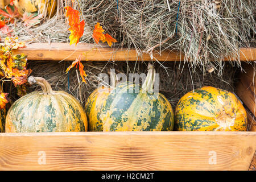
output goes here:
[{"label": "wooden rack frame with upper shelf, side board and front board", "polygon": [[[92,49],[87,44],[34,43],[15,51],[29,60],[75,60]],[[241,49],[242,61],[255,61],[256,49]],[[182,61],[162,52],[159,61]],[[151,60],[135,50],[98,47],[90,61]],[[0,169],[6,170],[255,170],[256,77],[246,67],[237,96],[246,107],[250,131],[144,131],[80,133],[1,133]],[[254,82],[253,82],[254,81]]]}]

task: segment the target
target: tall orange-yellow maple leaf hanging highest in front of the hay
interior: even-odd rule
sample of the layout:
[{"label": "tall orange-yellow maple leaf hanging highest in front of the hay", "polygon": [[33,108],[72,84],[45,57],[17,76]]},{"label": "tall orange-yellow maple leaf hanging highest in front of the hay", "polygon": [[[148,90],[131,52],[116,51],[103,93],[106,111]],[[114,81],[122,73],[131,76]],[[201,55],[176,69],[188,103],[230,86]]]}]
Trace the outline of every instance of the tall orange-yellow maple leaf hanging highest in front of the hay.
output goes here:
[{"label": "tall orange-yellow maple leaf hanging highest in front of the hay", "polygon": [[81,38],[81,36],[84,34],[85,22],[84,20],[80,22],[79,11],[72,9],[72,7],[70,6],[64,7],[64,9],[67,10],[66,16],[68,18],[68,24],[70,26],[68,30],[71,31],[71,35],[69,36],[70,45],[74,43],[77,44],[79,43],[79,39]]}]

